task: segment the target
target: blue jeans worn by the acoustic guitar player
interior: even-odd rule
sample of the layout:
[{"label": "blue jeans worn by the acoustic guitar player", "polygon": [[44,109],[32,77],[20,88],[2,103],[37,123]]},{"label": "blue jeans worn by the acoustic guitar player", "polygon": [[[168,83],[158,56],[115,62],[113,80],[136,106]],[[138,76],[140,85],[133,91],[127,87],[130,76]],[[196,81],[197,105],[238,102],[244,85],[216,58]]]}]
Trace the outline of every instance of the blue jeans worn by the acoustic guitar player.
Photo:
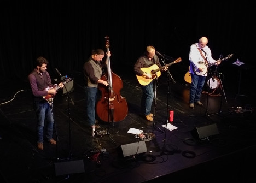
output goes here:
[{"label": "blue jeans worn by the acoustic guitar player", "polygon": [[141,113],[143,113],[144,115],[149,115],[151,112],[152,102],[154,99],[153,81],[146,86],[141,85],[141,89]]}]

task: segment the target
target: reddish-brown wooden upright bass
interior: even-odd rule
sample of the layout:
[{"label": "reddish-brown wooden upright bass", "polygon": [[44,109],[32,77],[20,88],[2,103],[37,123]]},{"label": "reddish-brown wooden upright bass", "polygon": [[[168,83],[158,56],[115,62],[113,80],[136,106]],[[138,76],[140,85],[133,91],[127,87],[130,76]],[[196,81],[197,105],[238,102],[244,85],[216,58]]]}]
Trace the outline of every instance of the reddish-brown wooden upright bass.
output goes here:
[{"label": "reddish-brown wooden upright bass", "polygon": [[[106,49],[109,51],[109,37],[106,36]],[[127,102],[120,95],[123,88],[121,78],[114,74],[110,67],[110,59],[107,56],[107,75],[103,72],[102,80],[108,82],[108,86],[98,84],[101,91],[101,99],[97,102],[96,113],[98,117],[105,122],[118,122],[124,120],[128,114]]]}]

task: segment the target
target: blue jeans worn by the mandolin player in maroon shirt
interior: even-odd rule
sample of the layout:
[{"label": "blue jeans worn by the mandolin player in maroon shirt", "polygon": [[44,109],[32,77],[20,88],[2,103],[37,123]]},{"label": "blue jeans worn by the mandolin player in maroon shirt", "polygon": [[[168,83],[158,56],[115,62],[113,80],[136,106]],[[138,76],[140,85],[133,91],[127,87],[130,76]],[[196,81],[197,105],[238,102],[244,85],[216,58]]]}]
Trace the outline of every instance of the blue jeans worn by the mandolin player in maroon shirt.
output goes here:
[{"label": "blue jeans worn by the mandolin player in maroon shirt", "polygon": [[[51,104],[53,106],[53,104]],[[34,101],[34,110],[37,115],[37,142],[44,141],[44,123],[45,123],[45,137],[47,140],[53,138],[53,124],[54,118],[51,111],[51,106],[46,101]]]}]

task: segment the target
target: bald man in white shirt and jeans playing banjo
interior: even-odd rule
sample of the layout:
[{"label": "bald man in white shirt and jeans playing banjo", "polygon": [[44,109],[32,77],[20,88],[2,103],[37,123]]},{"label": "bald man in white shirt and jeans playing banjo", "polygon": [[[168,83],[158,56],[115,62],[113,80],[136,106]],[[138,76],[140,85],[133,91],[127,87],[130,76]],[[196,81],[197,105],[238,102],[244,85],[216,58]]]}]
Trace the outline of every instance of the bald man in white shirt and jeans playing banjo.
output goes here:
[{"label": "bald man in white shirt and jeans playing banjo", "polygon": [[199,43],[192,44],[189,51],[189,73],[191,74],[191,85],[189,94],[189,107],[194,109],[194,103],[203,105],[200,102],[203,85],[208,72],[208,65],[220,64],[212,58],[211,49],[207,46],[208,39],[201,37]]}]

